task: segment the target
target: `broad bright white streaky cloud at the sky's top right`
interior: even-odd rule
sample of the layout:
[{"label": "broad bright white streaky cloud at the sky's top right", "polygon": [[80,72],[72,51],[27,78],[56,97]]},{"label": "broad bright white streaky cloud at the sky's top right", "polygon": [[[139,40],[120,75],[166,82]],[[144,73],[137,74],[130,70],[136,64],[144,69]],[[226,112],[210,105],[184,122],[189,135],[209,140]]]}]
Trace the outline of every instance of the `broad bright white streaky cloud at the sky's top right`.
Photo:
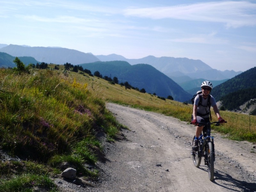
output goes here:
[{"label": "broad bright white streaky cloud at the sky's top right", "polygon": [[256,25],[256,4],[246,1],[224,1],[177,6],[129,8],[125,16],[150,19],[180,19],[226,23],[226,26],[238,28]]}]

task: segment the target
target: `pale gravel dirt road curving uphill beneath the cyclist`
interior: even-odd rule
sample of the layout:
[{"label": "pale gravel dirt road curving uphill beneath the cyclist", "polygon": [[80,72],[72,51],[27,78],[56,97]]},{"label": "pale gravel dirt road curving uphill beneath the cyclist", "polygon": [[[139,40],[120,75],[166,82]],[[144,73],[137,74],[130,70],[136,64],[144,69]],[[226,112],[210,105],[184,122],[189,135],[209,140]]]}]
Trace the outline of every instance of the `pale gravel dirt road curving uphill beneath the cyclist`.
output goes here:
[{"label": "pale gravel dirt road curving uphill beneath the cyclist", "polygon": [[212,182],[203,160],[199,168],[193,165],[193,125],[112,103],[107,108],[130,130],[123,130],[127,140],[106,144],[108,160],[98,164],[101,184],[86,191],[256,191],[255,144],[212,133],[216,156]]}]

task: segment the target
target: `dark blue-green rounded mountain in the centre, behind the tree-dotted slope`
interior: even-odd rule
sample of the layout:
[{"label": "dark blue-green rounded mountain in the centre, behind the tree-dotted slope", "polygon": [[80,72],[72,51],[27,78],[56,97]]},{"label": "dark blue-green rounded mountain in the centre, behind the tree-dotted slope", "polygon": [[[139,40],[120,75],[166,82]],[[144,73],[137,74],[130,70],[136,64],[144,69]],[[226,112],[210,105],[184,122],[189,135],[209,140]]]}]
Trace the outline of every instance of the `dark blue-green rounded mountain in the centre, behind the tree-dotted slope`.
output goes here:
[{"label": "dark blue-green rounded mountain in the centre, behind the tree-dotted slope", "polygon": [[89,69],[92,74],[99,71],[100,74],[108,77],[117,77],[119,83],[126,81],[133,87],[144,88],[148,93],[156,93],[157,96],[167,98],[169,95],[174,100],[181,102],[188,101],[192,97],[185,92],[171,78],[158,71],[148,64],[131,65],[126,61],[106,61],[81,64],[85,69]]}]

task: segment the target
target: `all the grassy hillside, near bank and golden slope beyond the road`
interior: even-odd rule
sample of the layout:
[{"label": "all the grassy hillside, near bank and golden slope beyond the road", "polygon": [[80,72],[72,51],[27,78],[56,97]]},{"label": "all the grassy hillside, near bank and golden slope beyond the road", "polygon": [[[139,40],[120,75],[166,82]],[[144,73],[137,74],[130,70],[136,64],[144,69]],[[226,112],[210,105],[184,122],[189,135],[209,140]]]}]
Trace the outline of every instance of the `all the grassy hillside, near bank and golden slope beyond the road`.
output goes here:
[{"label": "all the grassy hillside, near bank and golden slope beyond the road", "polygon": [[[114,142],[124,128],[106,109],[106,102],[190,123],[190,104],[162,100],[83,72],[63,73],[63,66],[49,67],[22,73],[0,69],[0,149],[21,159],[0,162],[0,192],[58,191],[50,178],[65,164],[76,168],[79,177],[97,179],[97,169],[92,168],[102,151],[97,133],[106,133],[107,141]],[[233,140],[256,142],[255,116],[220,113],[228,123],[213,127],[215,131]],[[212,117],[217,120],[213,111]]]}]

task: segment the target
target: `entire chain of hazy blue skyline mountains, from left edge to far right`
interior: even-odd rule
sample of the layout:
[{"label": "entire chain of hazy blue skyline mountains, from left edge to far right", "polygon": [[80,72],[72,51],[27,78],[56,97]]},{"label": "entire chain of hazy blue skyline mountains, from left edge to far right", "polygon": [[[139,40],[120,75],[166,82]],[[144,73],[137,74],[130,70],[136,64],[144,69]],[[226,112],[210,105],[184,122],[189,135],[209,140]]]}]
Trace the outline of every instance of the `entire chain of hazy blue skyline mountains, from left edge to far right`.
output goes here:
[{"label": "entire chain of hazy blue skyline mountains, from left edge to far right", "polygon": [[220,71],[212,69],[209,65],[201,60],[192,60],[188,58],[174,57],[154,57],[147,56],[141,59],[126,59],[121,55],[93,55],[73,49],[59,47],[29,47],[25,45],[6,45],[0,44],[0,52],[8,53],[15,57],[30,56],[34,57],[39,62],[65,64],[66,62],[72,65],[80,65],[82,63],[92,63],[95,61],[127,61],[131,65],[149,64],[161,71],[165,75],[172,78],[177,83],[183,83],[193,79],[207,80],[223,80],[230,79],[242,71],[235,72],[233,70]]}]

